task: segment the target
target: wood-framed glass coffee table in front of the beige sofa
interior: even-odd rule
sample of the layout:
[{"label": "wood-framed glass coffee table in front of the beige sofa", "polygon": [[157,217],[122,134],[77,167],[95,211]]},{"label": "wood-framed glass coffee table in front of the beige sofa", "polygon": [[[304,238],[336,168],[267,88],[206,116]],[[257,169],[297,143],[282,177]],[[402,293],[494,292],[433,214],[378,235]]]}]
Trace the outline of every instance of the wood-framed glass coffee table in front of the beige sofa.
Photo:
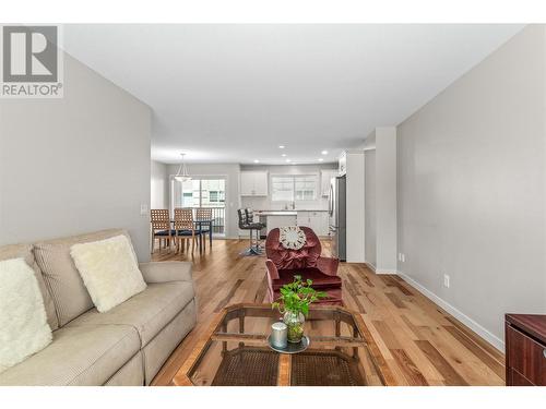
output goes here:
[{"label": "wood-framed glass coffee table in front of the beige sofa", "polygon": [[180,386],[364,386],[394,385],[368,327],[341,306],[311,306],[300,353],[270,349],[271,304],[235,304],[211,323],[173,380]]}]

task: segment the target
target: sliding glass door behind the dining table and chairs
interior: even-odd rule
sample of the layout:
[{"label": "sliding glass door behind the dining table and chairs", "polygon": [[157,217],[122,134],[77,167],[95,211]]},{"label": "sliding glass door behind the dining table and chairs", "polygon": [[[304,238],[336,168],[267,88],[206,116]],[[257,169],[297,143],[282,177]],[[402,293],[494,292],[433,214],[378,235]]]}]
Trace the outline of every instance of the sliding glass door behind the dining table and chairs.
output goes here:
[{"label": "sliding glass door behind the dining table and chairs", "polygon": [[226,178],[193,177],[188,182],[171,179],[171,207],[212,209],[213,233],[225,234]]}]

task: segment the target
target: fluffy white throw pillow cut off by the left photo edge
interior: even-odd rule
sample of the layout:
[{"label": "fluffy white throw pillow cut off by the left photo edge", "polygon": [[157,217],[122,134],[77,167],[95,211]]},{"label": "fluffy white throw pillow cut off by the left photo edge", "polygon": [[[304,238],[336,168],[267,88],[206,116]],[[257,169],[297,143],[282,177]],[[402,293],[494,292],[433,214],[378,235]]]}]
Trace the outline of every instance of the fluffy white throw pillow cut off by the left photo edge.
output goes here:
[{"label": "fluffy white throw pillow cut off by the left photo edge", "polygon": [[51,342],[34,270],[23,258],[0,262],[0,373]]}]

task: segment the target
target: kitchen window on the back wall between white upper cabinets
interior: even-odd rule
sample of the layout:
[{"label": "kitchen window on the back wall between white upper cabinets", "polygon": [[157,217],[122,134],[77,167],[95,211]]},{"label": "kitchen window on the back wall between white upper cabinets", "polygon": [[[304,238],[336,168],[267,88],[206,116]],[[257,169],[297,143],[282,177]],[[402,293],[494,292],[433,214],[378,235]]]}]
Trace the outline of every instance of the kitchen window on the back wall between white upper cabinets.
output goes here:
[{"label": "kitchen window on the back wall between white upper cabinets", "polygon": [[271,200],[273,202],[313,201],[317,199],[317,176],[271,177]]}]

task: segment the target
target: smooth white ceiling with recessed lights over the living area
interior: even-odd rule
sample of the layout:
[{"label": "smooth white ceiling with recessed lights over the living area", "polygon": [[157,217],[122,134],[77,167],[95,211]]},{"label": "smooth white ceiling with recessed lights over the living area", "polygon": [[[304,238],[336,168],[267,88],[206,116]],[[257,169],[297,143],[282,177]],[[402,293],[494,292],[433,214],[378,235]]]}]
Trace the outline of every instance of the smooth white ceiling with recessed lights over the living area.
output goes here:
[{"label": "smooth white ceiling with recessed lights over the living area", "polygon": [[399,124],[521,28],[85,24],[64,48],[152,107],[153,159],[302,164]]}]

